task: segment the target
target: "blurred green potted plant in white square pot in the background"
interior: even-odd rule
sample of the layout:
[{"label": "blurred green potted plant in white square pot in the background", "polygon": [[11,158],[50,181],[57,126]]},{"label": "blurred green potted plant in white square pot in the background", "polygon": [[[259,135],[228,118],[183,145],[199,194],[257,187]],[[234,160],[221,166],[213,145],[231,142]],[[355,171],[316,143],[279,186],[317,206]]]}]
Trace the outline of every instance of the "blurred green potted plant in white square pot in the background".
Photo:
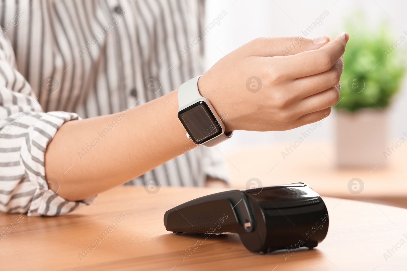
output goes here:
[{"label": "blurred green potted plant in white square pot in the background", "polygon": [[390,35],[388,24],[374,31],[362,25],[354,22],[346,27],[350,39],[335,105],[337,162],[341,167],[385,163],[387,123],[392,121],[386,110],[400,89],[406,69],[400,46],[407,44],[407,32]]}]

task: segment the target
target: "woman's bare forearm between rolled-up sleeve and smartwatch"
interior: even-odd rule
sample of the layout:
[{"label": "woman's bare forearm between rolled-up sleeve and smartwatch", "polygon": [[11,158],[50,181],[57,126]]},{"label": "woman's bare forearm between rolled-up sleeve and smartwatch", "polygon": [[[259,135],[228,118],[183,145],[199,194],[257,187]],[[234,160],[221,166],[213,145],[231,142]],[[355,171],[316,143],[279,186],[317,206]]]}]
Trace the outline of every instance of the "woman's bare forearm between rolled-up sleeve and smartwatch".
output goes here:
[{"label": "woman's bare forearm between rolled-up sleeve and smartwatch", "polygon": [[46,178],[57,180],[61,197],[80,200],[194,148],[177,109],[173,91],[121,113],[66,122],[47,147]]}]

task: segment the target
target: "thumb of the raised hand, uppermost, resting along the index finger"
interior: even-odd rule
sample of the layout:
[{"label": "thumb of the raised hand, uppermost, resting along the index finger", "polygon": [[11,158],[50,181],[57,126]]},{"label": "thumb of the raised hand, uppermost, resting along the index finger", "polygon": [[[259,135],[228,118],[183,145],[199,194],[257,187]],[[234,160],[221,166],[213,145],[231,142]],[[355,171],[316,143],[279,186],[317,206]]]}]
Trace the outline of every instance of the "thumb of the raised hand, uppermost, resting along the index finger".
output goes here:
[{"label": "thumb of the raised hand, uppermost, resting along the index finger", "polygon": [[314,39],[304,37],[261,37],[246,43],[245,50],[253,56],[288,56],[316,50],[330,41],[328,36]]}]

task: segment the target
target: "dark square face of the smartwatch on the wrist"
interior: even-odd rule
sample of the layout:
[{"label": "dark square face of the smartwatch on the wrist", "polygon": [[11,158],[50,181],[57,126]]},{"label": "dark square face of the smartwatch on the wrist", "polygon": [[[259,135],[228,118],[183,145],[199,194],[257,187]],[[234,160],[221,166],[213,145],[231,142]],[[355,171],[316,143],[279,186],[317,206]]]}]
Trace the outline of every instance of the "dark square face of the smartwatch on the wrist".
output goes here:
[{"label": "dark square face of the smartwatch on the wrist", "polygon": [[222,133],[219,122],[203,101],[179,111],[178,118],[195,144],[205,143]]}]

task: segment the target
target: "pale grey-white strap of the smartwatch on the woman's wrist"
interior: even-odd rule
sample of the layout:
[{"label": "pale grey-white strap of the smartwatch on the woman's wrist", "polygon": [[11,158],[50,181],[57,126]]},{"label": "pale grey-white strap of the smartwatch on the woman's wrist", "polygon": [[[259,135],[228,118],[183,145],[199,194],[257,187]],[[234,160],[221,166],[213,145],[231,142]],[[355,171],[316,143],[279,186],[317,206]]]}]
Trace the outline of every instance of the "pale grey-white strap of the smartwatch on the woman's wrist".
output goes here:
[{"label": "pale grey-white strap of the smartwatch on the woman's wrist", "polygon": [[[204,97],[201,96],[198,90],[198,80],[199,77],[197,76],[194,77],[188,81],[186,81],[184,84],[182,84],[179,89],[178,89],[178,111],[181,109],[184,109],[190,105],[195,104],[195,102],[199,99],[205,99]],[[212,107],[212,106],[211,106]],[[216,118],[218,121],[222,122],[219,119],[219,115],[217,115],[216,112],[212,112],[212,114],[216,115]],[[223,126],[223,124],[222,124]],[[224,127],[224,126],[223,126]],[[221,135],[215,137],[214,139],[211,139],[210,141],[207,141],[204,143],[205,146],[207,147],[213,147],[222,141],[225,141],[226,139],[230,139],[232,137],[233,131],[225,133],[223,132]]]}]

